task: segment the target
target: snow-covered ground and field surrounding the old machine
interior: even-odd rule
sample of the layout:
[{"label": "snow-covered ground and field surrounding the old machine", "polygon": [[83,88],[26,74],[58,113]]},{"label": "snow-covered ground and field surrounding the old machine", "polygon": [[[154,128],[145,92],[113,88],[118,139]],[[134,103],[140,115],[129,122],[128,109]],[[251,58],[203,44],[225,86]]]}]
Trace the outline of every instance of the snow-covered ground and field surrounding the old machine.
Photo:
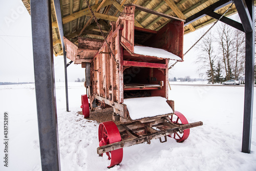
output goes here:
[{"label": "snow-covered ground and field surrounding the old machine", "polygon": [[[69,83],[66,112],[65,84],[56,83],[61,170],[256,170],[256,115],[253,115],[251,154],[241,153],[244,87],[171,85],[169,99],[189,122],[204,125],[190,130],[188,139],[169,138],[150,145],[123,148],[123,161],[111,169],[96,153],[98,123],[77,115],[80,82]],[[256,93],[254,94],[254,96]],[[9,114],[9,166],[4,167],[4,144],[0,143],[0,170],[40,170],[35,89],[33,84],[0,86],[0,130],[3,114]],[[256,110],[254,105],[254,111]],[[3,131],[2,140],[3,138]]]}]

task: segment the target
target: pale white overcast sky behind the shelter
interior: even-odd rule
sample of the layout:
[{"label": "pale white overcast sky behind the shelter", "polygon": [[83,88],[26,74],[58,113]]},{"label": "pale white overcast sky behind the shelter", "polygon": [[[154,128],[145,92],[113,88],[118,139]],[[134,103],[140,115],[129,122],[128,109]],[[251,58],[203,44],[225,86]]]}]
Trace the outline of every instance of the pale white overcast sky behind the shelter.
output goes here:
[{"label": "pale white overcast sky behind the shelter", "polygon": [[[1,1],[0,13],[0,82],[34,82],[31,17],[21,0]],[[206,29],[184,36],[184,53]],[[191,50],[184,56],[184,62],[178,62],[169,72],[169,77],[200,78],[196,54],[196,49]],[[63,56],[54,56],[54,66],[56,81],[64,81]],[[72,63],[68,67],[68,81],[78,77],[84,77],[84,69]]]}]

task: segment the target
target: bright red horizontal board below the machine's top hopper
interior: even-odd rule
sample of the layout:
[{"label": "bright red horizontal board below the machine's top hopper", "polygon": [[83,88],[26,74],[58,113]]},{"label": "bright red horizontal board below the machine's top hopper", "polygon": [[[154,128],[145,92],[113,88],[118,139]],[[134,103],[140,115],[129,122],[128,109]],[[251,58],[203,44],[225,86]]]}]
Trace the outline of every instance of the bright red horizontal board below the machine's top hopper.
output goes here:
[{"label": "bright red horizontal board below the machine's top hopper", "polygon": [[123,66],[166,69],[166,64],[123,60]]}]

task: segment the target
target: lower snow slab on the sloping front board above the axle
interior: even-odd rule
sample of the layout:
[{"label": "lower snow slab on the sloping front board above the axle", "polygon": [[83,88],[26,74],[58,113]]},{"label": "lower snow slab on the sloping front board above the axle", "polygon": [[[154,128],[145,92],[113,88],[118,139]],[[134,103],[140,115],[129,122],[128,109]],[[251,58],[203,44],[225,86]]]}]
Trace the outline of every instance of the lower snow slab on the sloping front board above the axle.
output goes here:
[{"label": "lower snow slab on the sloping front board above the axle", "polygon": [[173,113],[164,97],[140,97],[124,99],[131,119],[141,119]]}]

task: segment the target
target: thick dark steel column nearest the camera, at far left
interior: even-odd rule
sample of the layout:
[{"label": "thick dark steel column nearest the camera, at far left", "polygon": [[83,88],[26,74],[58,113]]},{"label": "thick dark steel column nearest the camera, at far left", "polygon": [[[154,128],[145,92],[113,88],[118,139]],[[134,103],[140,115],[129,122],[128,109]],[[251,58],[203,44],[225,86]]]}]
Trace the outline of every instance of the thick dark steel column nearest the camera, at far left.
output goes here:
[{"label": "thick dark steel column nearest the camera, at far left", "polygon": [[42,170],[60,170],[51,1],[31,1],[36,106]]}]

